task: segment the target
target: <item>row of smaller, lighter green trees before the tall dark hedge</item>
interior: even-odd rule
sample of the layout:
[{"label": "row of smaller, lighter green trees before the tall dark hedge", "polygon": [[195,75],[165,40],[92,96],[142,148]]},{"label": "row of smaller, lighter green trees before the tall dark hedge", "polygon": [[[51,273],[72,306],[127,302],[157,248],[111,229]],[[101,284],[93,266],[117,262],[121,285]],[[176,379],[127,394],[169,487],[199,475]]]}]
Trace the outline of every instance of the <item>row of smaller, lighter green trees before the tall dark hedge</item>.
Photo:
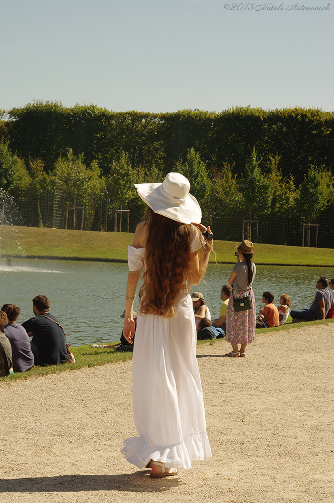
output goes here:
[{"label": "row of smaller, lighter green trees before the tall dark hedge", "polygon": [[[297,187],[291,176],[282,175],[278,155],[270,156],[269,160],[269,169],[264,173],[253,148],[243,175],[239,176],[235,166],[229,163],[223,163],[220,170],[210,171],[208,162],[190,148],[185,160],[176,161],[173,169],[189,179],[191,193],[204,212],[218,219],[243,209],[250,219],[269,213],[296,213],[304,222],[312,223],[322,210],[333,207],[333,176],[326,167],[309,165]],[[32,188],[40,192],[56,188],[67,194],[68,201],[75,199],[77,204],[90,196],[95,200],[107,196],[114,209],[123,205],[124,209],[136,207],[138,210],[145,205],[138,198],[134,184],[163,179],[164,173],[155,163],[147,169],[141,166],[134,169],[129,154],[123,151],[114,159],[106,176],[96,159],[87,165],[83,154],[76,156],[71,149],[59,156],[53,169],[46,173],[40,158],[30,158],[26,166],[8,143],[0,142],[0,185],[16,194]]]}]

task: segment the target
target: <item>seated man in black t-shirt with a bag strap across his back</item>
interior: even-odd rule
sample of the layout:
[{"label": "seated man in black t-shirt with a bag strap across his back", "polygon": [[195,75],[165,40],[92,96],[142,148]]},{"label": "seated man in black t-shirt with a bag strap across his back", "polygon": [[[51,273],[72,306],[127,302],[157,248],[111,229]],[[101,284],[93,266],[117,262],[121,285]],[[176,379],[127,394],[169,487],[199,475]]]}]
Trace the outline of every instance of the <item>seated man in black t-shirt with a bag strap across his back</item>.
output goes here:
[{"label": "seated man in black t-shirt with a bag strap across his back", "polygon": [[49,313],[50,301],[45,295],[33,299],[34,318],[22,323],[32,337],[31,350],[35,365],[61,365],[67,360],[65,336],[57,318]]}]

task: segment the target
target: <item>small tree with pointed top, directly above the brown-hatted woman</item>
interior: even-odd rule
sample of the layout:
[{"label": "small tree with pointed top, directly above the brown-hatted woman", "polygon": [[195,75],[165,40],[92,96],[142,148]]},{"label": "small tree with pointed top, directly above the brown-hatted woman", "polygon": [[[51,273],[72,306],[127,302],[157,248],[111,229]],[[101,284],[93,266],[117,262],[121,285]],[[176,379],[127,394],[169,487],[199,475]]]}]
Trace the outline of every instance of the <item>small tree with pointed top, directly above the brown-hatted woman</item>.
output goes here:
[{"label": "small tree with pointed top, directly above the brown-hatted woman", "polygon": [[261,173],[255,148],[246,163],[244,177],[240,181],[240,190],[250,211],[250,219],[252,219],[252,211],[256,215],[269,213],[272,188],[268,178]]}]

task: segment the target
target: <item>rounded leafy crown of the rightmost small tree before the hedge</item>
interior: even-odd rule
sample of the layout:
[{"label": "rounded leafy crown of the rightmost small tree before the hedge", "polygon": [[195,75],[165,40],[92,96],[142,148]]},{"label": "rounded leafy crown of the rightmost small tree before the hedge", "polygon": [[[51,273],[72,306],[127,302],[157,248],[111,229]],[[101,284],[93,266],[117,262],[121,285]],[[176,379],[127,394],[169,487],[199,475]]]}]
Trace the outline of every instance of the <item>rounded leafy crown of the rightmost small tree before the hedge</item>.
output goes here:
[{"label": "rounded leafy crown of the rightmost small tree before the hedge", "polygon": [[318,169],[311,165],[304,181],[299,187],[297,211],[308,223],[319,215],[327,206],[333,193],[333,177],[322,167]]}]

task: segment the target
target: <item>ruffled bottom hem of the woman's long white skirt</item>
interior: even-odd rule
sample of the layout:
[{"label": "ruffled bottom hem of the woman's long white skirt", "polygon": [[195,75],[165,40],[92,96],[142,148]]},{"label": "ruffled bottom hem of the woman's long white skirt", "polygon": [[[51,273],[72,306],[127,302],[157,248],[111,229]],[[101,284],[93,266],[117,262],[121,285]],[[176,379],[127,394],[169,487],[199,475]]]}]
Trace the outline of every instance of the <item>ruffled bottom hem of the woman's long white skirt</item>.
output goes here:
[{"label": "ruffled bottom hem of the woman's long white skirt", "polygon": [[168,446],[152,445],[143,437],[130,437],[123,441],[121,450],[129,463],[144,468],[150,459],[164,463],[167,468],[191,468],[191,461],[211,458],[206,432],[187,437],[183,442]]}]

